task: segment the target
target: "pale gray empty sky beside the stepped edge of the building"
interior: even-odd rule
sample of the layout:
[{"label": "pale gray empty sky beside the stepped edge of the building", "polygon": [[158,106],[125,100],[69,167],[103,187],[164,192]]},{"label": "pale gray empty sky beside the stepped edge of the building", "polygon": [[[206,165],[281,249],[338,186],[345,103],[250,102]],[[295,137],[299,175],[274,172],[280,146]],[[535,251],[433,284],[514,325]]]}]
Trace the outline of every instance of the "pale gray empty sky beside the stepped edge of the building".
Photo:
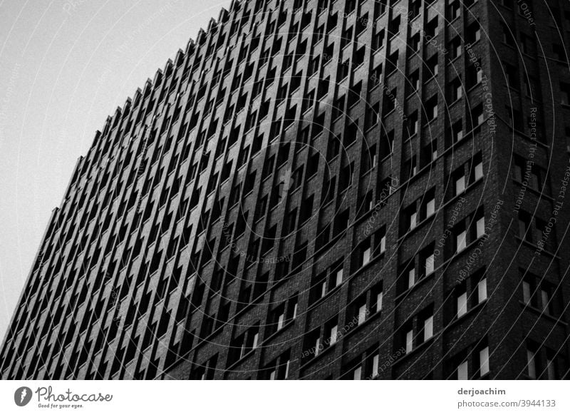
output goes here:
[{"label": "pale gray empty sky beside the stepped edge of the building", "polygon": [[229,0],[0,0],[0,342],[95,130]]}]

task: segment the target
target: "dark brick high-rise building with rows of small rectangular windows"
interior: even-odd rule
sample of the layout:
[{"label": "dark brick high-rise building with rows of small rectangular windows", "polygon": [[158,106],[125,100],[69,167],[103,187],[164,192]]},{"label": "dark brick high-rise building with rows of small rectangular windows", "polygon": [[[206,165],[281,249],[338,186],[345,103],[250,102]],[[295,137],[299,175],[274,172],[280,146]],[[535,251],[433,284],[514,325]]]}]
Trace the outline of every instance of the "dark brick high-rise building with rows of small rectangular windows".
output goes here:
[{"label": "dark brick high-rise building with rows of small rectangular windows", "polygon": [[532,4],[234,1],[79,159],[1,377],[568,377],[570,6]]}]

